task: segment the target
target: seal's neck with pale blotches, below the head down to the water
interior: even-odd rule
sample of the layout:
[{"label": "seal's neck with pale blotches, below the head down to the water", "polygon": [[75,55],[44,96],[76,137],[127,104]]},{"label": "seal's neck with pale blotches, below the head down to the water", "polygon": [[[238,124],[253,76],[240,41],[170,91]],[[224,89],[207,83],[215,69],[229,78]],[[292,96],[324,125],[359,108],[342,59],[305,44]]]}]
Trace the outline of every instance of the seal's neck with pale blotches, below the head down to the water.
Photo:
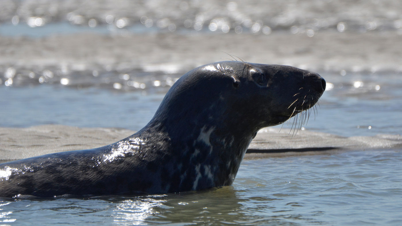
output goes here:
[{"label": "seal's neck with pale blotches, below the head down to the water", "polygon": [[[195,114],[192,120],[180,120],[189,117],[183,115],[184,112],[175,117],[162,117],[164,114],[159,114],[135,134],[152,141],[154,147],[164,152],[165,158],[173,156],[179,159],[183,171],[180,180],[183,180],[182,177],[199,177],[197,183],[180,188],[182,190],[232,185],[256,132],[246,130],[242,123],[227,120],[224,114],[209,112]],[[167,142],[169,145],[160,147],[159,144]],[[200,171],[195,166],[203,169]],[[187,179],[191,181],[194,178]]]}]

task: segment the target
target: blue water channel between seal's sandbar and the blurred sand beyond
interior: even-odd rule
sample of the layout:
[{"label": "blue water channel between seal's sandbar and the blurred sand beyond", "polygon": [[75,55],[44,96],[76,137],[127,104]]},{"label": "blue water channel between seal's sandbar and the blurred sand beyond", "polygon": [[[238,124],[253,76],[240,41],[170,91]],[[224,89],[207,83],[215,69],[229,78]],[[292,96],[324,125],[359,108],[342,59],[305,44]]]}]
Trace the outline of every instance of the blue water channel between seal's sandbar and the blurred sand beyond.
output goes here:
[{"label": "blue water channel between seal's sandbar and the blurred sand beyond", "polygon": [[[303,129],[340,136],[401,133],[400,74],[351,73],[342,76],[328,71],[320,74],[326,79],[327,89],[320,98],[318,111],[311,114]],[[125,81],[119,79],[117,73],[109,76],[116,79],[115,83]],[[151,80],[144,81],[144,89],[115,89],[111,82],[88,88],[66,88],[60,83],[0,86],[0,96],[5,97],[0,99],[0,105],[5,106],[0,108],[0,126],[65,124],[139,130],[152,118],[170,87],[153,86],[155,81],[163,81],[166,76],[175,79],[176,75],[154,73],[150,75]],[[283,128],[291,128],[292,124],[293,119],[285,122]]]}]

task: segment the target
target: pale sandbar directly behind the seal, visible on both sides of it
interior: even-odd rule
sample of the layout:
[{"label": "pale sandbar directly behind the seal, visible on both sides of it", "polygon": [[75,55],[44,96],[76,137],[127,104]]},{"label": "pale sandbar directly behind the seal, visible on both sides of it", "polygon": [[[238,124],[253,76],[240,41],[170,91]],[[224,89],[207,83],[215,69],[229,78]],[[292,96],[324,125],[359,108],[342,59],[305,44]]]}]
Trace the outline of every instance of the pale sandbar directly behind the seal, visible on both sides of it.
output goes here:
[{"label": "pale sandbar directly behind the seal, visible on both sides of it", "polygon": [[[80,128],[54,124],[28,128],[0,127],[0,163],[55,152],[102,147],[134,133],[121,128]],[[323,132],[298,131],[292,137],[286,129],[279,132],[277,128],[263,128],[252,140],[244,159],[400,147],[402,135],[398,134],[343,137]]]}]

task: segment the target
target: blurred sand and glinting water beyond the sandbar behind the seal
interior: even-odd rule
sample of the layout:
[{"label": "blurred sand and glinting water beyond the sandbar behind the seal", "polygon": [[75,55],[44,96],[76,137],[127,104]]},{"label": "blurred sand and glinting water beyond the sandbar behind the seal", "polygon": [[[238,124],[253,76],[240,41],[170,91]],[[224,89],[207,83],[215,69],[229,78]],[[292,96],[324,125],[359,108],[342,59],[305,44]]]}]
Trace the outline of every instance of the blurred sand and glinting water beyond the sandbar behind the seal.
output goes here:
[{"label": "blurred sand and glinting water beyond the sandbar behind the seal", "polygon": [[400,134],[401,55],[399,0],[2,0],[0,126],[139,130],[185,72],[242,59],[326,79],[303,130]]}]

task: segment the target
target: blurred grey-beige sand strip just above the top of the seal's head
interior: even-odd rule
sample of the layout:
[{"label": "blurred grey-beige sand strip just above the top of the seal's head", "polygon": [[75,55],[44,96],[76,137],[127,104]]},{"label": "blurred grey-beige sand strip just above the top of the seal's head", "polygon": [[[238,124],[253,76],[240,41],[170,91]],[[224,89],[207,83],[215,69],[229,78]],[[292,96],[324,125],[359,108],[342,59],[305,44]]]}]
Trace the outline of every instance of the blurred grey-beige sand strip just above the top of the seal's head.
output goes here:
[{"label": "blurred grey-beige sand strip just above the top of the seal's head", "polygon": [[[313,71],[402,71],[401,35],[391,31],[340,33],[318,31],[289,35],[178,33],[104,35],[79,33],[40,39],[1,37],[0,65],[22,69],[141,69],[185,72],[231,59],[285,64]],[[226,53],[224,53],[224,52]],[[342,62],[340,64],[339,62]],[[18,71],[17,71],[18,73]]]}]

